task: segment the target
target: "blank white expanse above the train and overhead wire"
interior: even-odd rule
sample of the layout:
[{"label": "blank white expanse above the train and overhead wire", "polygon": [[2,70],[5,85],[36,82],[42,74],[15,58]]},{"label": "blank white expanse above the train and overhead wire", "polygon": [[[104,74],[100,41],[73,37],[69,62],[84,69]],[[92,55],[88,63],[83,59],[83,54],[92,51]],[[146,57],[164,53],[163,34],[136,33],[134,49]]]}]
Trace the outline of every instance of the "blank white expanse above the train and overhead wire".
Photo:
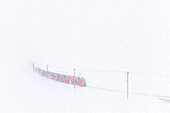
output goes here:
[{"label": "blank white expanse above the train and overhead wire", "polygon": [[169,0],[1,0],[1,50],[70,67],[170,73],[169,13]]}]

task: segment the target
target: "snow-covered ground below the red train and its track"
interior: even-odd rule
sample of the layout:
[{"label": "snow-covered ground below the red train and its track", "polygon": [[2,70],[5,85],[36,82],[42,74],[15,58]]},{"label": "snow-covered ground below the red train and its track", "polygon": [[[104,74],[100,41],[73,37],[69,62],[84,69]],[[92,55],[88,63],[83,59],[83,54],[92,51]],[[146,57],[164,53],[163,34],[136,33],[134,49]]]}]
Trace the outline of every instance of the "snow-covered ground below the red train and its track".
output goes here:
[{"label": "snow-covered ground below the red train and its track", "polygon": [[[24,68],[11,70],[12,76],[6,74],[11,78],[3,80],[3,84],[1,82],[1,91],[3,92],[1,93],[1,112],[168,113],[170,111],[169,103],[164,103],[157,97],[130,95],[127,100],[126,93],[122,92],[89,87],[74,89],[72,85],[42,78],[42,76],[33,73],[31,69],[31,66],[25,64]],[[105,84],[102,86],[106,87]]]}]

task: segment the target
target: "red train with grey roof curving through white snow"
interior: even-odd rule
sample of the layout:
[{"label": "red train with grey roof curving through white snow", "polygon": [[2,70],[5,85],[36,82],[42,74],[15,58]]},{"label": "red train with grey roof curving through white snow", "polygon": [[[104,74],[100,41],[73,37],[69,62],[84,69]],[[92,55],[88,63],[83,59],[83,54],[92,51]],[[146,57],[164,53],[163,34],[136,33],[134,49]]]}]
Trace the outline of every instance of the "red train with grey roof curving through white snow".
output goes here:
[{"label": "red train with grey roof curving through white snow", "polygon": [[68,76],[68,75],[59,74],[59,73],[53,73],[53,72],[42,70],[40,68],[34,68],[34,71],[38,72],[42,76],[45,76],[47,78],[50,78],[50,79],[53,79],[59,82],[75,84],[78,86],[86,87],[86,80],[83,77],[74,77],[74,76]]}]

